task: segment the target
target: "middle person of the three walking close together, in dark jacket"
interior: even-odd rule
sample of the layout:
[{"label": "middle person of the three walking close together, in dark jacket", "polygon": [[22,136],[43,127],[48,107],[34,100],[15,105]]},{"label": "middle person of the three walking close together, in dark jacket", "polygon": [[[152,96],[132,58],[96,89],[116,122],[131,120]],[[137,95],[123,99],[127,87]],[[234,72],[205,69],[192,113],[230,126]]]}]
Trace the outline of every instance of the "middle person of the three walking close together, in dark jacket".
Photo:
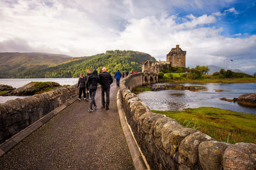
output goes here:
[{"label": "middle person of the three walking close together, in dark jacket", "polygon": [[92,105],[94,105],[95,110],[97,109],[97,106],[95,103],[95,95],[96,95],[98,83],[99,83],[99,76],[98,76],[98,72],[95,70],[88,78],[88,88],[89,88],[90,97],[91,97],[90,108],[88,111],[90,112],[93,111]]}]

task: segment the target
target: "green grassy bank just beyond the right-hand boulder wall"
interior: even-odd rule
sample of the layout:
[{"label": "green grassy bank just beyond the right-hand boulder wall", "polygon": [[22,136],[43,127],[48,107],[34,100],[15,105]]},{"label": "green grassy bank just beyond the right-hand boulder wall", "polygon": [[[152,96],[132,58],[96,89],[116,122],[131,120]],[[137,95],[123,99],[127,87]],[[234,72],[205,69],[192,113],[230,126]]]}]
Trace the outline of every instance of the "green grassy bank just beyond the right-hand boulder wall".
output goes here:
[{"label": "green grassy bank just beyond the right-hand boulder wall", "polygon": [[256,144],[256,115],[211,107],[152,111],[174,118],[184,127],[197,129],[218,141]]}]

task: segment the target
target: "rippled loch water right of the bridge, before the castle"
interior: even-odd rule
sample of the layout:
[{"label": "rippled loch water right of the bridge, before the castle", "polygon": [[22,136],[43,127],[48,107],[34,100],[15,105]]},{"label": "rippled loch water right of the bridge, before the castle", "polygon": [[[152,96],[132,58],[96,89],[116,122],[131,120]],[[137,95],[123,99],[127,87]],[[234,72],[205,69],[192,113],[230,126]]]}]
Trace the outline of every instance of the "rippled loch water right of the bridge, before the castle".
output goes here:
[{"label": "rippled loch water right of the bridge, before the castle", "polygon": [[[157,85],[157,84],[156,84]],[[151,110],[182,110],[202,106],[221,108],[256,115],[256,108],[246,108],[237,103],[221,101],[220,98],[233,99],[241,94],[256,93],[256,83],[182,83],[185,86],[204,86],[206,90],[147,91],[138,94]],[[216,92],[220,90],[221,92]]]}]

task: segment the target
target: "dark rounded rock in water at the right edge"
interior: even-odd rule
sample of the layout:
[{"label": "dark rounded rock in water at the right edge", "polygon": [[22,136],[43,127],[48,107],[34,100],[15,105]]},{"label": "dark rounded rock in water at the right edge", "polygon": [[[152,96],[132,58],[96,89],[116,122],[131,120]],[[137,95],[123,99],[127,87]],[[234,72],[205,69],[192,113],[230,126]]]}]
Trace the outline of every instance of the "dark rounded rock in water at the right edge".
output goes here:
[{"label": "dark rounded rock in water at the right edge", "polygon": [[237,103],[242,106],[256,107],[256,93],[242,94],[238,97]]}]

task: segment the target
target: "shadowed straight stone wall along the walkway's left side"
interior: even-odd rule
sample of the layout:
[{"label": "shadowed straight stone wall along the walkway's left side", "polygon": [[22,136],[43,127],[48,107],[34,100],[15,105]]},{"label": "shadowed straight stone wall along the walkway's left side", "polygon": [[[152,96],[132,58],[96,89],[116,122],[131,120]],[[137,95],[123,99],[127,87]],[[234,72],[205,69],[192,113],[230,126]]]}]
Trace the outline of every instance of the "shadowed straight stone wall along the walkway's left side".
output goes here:
[{"label": "shadowed straight stone wall along the walkway's left side", "polygon": [[0,143],[77,96],[77,85],[0,103]]}]

